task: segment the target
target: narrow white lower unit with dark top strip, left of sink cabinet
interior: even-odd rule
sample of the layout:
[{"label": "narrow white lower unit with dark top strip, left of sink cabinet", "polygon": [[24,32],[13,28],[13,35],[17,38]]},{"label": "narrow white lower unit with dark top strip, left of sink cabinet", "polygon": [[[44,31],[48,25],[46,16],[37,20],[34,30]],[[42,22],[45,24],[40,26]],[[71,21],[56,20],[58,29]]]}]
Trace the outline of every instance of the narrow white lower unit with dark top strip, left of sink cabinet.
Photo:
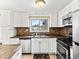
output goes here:
[{"label": "narrow white lower unit with dark top strip, left of sink cabinet", "polygon": [[22,53],[31,53],[31,40],[21,39],[20,44],[22,45]]}]

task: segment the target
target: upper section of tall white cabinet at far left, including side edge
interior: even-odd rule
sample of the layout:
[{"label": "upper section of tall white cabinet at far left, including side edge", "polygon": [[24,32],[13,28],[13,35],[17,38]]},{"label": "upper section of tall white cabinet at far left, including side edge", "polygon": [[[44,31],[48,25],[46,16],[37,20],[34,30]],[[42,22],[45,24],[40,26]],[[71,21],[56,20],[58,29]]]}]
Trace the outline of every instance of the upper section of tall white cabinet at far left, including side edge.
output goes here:
[{"label": "upper section of tall white cabinet at far left, including side edge", "polygon": [[[11,22],[12,21],[12,22]],[[0,27],[13,25],[12,11],[0,10]]]}]

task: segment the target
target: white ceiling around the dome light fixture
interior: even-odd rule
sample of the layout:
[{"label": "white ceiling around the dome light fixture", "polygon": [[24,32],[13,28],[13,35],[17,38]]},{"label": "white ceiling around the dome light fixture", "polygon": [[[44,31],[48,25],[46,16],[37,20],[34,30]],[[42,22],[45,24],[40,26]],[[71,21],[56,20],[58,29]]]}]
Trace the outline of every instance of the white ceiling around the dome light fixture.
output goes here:
[{"label": "white ceiling around the dome light fixture", "polygon": [[25,11],[31,13],[56,13],[72,0],[45,0],[43,8],[34,5],[35,0],[0,0],[0,9]]}]

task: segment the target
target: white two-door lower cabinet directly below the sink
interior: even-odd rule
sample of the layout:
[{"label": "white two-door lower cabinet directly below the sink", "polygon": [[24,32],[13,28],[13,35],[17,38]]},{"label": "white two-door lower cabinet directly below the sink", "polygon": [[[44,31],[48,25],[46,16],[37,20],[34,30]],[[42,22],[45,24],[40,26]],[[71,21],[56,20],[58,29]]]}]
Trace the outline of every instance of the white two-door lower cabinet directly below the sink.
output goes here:
[{"label": "white two-door lower cabinet directly below the sink", "polygon": [[32,38],[32,54],[48,53],[48,39]]}]

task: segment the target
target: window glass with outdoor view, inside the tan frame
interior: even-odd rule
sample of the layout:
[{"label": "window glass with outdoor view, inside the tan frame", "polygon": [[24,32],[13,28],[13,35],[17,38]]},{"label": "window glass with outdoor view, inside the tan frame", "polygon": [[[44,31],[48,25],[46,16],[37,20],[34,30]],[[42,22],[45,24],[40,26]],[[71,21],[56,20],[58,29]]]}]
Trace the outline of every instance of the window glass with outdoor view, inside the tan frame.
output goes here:
[{"label": "window glass with outdoor view, inside the tan frame", "polygon": [[31,31],[33,32],[48,31],[48,19],[33,19],[31,24]]}]

